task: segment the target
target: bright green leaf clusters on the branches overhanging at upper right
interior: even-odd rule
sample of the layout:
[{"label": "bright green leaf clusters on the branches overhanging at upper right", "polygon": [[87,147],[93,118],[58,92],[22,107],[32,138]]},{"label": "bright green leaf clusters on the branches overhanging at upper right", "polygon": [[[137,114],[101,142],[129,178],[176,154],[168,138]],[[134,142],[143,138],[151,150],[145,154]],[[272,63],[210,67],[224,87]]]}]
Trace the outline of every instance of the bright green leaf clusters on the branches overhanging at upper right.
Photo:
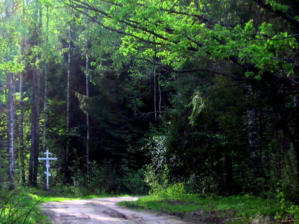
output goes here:
[{"label": "bright green leaf clusters on the branches overhanging at upper right", "polygon": [[[267,3],[273,10],[289,9],[288,5],[274,0]],[[197,21],[196,18],[215,13],[211,11],[216,10],[216,4],[209,2],[203,2],[201,6],[193,1],[176,4],[171,0],[163,3],[153,0],[146,4],[122,1],[117,6],[104,5],[108,7],[103,12],[105,26],[120,29],[126,25],[124,31],[127,35],[122,37],[119,48],[125,56],[150,60],[157,57],[163,64],[175,69],[182,68],[187,61],[199,60],[203,55],[209,55],[212,60],[236,57],[240,64],[251,63],[260,69],[255,74],[256,79],[261,79],[266,71],[276,72],[281,67],[287,68],[285,75],[293,72],[281,52],[291,57],[298,43],[292,34],[276,32],[272,23],[259,23],[254,19],[235,25],[213,24],[212,18]]]}]

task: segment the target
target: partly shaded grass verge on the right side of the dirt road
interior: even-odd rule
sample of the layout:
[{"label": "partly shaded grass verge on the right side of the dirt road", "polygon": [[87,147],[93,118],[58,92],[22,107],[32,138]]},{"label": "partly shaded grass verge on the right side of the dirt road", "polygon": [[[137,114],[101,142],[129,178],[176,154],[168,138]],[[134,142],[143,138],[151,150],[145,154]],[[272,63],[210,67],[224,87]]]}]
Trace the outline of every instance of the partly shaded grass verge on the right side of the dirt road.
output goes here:
[{"label": "partly shaded grass verge on the right side of the dirt road", "polygon": [[288,214],[274,199],[254,196],[205,198],[199,195],[151,195],[135,202],[121,202],[137,210],[152,210],[174,215],[193,223],[209,224],[299,224],[299,211]]}]

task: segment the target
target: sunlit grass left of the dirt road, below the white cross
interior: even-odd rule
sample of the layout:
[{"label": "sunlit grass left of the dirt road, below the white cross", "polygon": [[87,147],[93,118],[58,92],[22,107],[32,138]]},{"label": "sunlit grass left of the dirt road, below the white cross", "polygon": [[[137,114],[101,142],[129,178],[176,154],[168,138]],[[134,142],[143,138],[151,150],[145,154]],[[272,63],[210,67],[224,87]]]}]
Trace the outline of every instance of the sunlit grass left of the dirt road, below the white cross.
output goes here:
[{"label": "sunlit grass left of the dirt road, below the white cross", "polygon": [[40,205],[46,202],[121,197],[128,195],[83,195],[74,187],[41,188],[18,187],[14,191],[0,191],[0,224],[49,224],[42,215]]}]

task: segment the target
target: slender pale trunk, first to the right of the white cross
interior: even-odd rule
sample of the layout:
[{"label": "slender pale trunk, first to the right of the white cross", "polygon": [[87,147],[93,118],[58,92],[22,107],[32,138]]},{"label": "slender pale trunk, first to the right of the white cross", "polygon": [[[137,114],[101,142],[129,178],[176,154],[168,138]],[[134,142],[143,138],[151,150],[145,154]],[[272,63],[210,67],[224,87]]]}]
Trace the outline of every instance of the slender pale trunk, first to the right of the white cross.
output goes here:
[{"label": "slender pale trunk, first to the right of the white cross", "polygon": [[67,60],[67,87],[66,87],[66,150],[65,150],[65,161],[64,161],[64,181],[69,182],[69,103],[70,103],[70,88],[69,88],[69,82],[70,82],[70,51],[71,51],[71,28],[69,28],[68,32],[68,60]]}]

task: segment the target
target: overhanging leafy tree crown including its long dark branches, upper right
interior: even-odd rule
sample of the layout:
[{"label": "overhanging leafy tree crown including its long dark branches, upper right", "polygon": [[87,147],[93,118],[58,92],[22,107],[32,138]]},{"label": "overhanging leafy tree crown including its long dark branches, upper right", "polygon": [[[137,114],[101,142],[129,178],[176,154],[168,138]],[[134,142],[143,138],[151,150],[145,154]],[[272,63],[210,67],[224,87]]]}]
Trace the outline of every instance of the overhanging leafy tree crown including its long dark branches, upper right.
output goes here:
[{"label": "overhanging leafy tree crown including its long dark branches, upper right", "polygon": [[[228,24],[213,18],[213,10],[217,8],[208,1],[202,4],[174,0],[62,1],[102,27],[124,34],[120,47],[124,55],[153,64],[159,61],[160,66],[169,71],[184,72],[182,68],[186,62],[199,62],[205,57],[243,67],[238,74],[221,73],[230,77],[294,76],[299,34],[290,33],[285,27],[278,29],[274,23],[279,20],[260,22],[249,18]],[[253,0],[255,2],[259,10],[270,10],[288,21],[288,27],[299,28],[296,16],[284,12],[288,5],[271,0]],[[206,68],[205,63],[197,64],[199,66],[193,70],[219,73]]]}]

